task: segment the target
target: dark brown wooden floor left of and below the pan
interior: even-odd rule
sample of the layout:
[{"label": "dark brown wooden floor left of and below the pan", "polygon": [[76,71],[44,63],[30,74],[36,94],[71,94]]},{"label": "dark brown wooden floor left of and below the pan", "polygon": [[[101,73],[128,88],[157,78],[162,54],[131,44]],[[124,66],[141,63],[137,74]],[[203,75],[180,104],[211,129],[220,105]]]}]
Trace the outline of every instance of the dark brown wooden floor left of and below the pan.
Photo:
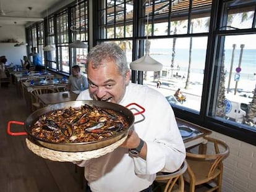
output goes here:
[{"label": "dark brown wooden floor left of and below the pan", "polygon": [[[36,156],[26,144],[26,136],[10,136],[7,122],[24,122],[29,112],[15,86],[0,88],[0,191],[4,192],[84,192],[80,173],[71,162],[54,162]],[[20,125],[12,131],[23,131]]]}]

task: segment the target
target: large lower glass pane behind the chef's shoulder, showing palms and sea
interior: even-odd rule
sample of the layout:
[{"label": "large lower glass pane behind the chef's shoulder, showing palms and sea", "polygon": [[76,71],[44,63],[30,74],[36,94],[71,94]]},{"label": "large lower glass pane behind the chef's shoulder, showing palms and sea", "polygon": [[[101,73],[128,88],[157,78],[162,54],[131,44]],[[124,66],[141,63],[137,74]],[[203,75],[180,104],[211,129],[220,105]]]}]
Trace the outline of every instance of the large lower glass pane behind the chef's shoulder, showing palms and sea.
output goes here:
[{"label": "large lower glass pane behind the chef's shoulder, showing palms and sea", "polygon": [[[143,82],[163,93],[171,104],[199,112],[206,48],[207,37],[150,40],[150,56],[163,64],[163,69],[158,75],[145,73]],[[156,88],[158,79],[161,88]],[[174,97],[178,88],[186,96],[186,102]],[[178,102],[174,103],[173,97]]]}]

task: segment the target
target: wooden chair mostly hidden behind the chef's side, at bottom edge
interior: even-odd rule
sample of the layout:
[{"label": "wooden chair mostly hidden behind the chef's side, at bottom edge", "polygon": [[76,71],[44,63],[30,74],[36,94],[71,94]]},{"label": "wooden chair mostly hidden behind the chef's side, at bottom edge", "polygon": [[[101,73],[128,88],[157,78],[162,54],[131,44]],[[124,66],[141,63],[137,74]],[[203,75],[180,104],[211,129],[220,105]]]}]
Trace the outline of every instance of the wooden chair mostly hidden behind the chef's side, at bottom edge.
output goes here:
[{"label": "wooden chair mostly hidden behind the chef's side, at bottom edge", "polygon": [[[187,170],[187,162],[184,161],[179,170],[173,173],[158,172],[154,182],[153,191],[184,191],[184,179],[182,174]],[[164,190],[162,190],[164,188]]]}]

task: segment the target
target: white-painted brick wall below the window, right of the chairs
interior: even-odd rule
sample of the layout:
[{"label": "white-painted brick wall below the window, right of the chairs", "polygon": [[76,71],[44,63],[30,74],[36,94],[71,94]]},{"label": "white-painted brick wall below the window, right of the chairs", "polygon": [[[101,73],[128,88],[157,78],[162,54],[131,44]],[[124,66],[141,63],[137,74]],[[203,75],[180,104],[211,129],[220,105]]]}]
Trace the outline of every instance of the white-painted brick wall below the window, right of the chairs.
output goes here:
[{"label": "white-painted brick wall below the window, right of the chairs", "polygon": [[224,141],[230,149],[229,156],[223,162],[222,191],[256,191],[256,147],[216,132],[210,137]]}]

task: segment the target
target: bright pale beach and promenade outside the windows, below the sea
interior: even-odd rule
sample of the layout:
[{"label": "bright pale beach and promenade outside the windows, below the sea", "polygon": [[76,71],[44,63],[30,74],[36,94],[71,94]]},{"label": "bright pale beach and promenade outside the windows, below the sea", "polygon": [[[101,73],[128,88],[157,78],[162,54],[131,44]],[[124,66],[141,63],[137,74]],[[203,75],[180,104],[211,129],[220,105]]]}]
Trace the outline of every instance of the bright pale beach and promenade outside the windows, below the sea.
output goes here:
[{"label": "bright pale beach and promenade outside the windows, below the sea", "polygon": [[[225,88],[228,87],[228,79],[228,75],[226,75]],[[187,101],[184,102],[182,106],[188,107],[189,109],[194,109],[195,111],[200,111],[203,89],[203,74],[191,73],[188,89],[185,89],[186,78],[160,77],[160,88],[156,88],[157,80],[158,79],[155,79],[154,81],[153,72],[147,72],[147,80],[143,80],[143,84],[148,85],[157,91],[160,91],[160,93],[162,93],[165,97],[173,95],[178,88],[181,88],[182,93],[184,93],[187,97]],[[237,81],[236,95],[241,96],[242,94],[246,94],[252,96],[252,91],[254,91],[255,85],[256,80],[247,80],[242,78],[241,80]],[[234,78],[232,78],[229,86],[229,94],[234,94],[235,87],[236,81],[234,81]],[[228,94],[227,90],[225,94]],[[250,98],[248,100],[250,100]]]}]

